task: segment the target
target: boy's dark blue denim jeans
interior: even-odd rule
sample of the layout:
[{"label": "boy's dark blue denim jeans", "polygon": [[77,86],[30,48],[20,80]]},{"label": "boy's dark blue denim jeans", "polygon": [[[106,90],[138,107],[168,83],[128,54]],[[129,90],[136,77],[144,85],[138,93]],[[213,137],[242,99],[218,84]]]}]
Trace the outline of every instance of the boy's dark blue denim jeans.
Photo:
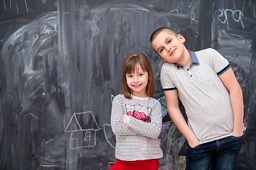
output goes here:
[{"label": "boy's dark blue denim jeans", "polygon": [[206,170],[212,164],[213,170],[233,170],[242,144],[241,137],[226,137],[194,148],[186,147],[186,169]]}]

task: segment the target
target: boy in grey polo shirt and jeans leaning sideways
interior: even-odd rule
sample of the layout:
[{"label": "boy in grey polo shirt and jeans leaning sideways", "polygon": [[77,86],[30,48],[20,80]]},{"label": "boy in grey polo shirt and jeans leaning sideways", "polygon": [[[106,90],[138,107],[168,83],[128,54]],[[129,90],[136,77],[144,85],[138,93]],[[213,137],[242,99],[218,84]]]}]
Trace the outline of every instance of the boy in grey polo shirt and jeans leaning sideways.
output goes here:
[{"label": "boy in grey polo shirt and jeans leaning sideways", "polygon": [[[244,141],[240,85],[216,50],[188,51],[170,28],[152,33],[151,47],[164,64],[161,86],[171,120],[186,137],[186,169],[235,169]],[[180,98],[188,124],[178,107]]]}]

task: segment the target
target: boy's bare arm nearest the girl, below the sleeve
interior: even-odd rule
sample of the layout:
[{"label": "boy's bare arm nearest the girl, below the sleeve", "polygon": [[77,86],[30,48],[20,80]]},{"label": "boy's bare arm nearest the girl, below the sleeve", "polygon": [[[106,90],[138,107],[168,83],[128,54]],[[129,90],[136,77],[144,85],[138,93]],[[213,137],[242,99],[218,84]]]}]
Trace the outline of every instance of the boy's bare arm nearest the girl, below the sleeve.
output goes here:
[{"label": "boy's bare arm nearest the girl, below the sleeve", "polygon": [[183,118],[180,108],[178,107],[178,94],[177,89],[164,91],[166,97],[167,109],[170,115],[171,120],[174,122],[178,130],[186,137],[188,140],[188,145],[191,147],[196,147],[199,144],[199,141],[196,135],[188,127],[186,120]]}]

